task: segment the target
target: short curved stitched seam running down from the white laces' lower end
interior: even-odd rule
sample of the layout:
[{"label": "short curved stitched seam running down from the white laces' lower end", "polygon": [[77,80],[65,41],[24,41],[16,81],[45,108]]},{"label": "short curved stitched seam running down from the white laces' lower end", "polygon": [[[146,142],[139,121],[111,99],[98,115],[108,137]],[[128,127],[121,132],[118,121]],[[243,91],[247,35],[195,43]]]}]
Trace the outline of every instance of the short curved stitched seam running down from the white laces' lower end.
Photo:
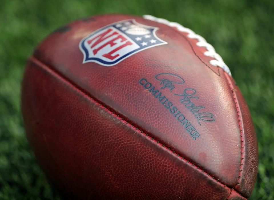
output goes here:
[{"label": "short curved stitched seam running down from the white laces' lower end", "polygon": [[[238,181],[237,184],[234,186],[236,187],[237,185],[240,184],[240,179],[243,175],[243,160],[244,160],[244,146],[245,146],[245,141],[244,141],[244,136],[243,136],[243,125],[242,125],[242,114],[241,114],[241,109],[239,107],[239,101],[237,99],[237,96],[235,94],[235,89],[233,88],[232,82],[229,79],[229,77],[227,77],[228,75],[225,73],[225,77],[227,79],[227,82],[229,84],[229,87],[231,89],[232,95],[233,95],[233,100],[235,102],[235,106],[236,106],[236,111],[237,111],[237,116],[238,116],[238,122],[239,122],[239,128],[240,128],[240,136],[241,136],[241,164],[240,164],[240,169],[239,169],[239,176],[238,176]],[[233,188],[234,188],[233,187]],[[235,188],[234,188],[235,189]]]}]

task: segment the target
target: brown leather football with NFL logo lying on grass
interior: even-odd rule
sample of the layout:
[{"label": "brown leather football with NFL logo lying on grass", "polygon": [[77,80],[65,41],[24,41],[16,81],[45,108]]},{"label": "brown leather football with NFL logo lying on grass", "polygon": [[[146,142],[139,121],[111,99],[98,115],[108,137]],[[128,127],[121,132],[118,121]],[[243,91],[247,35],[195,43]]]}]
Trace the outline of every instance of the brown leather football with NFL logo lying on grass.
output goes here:
[{"label": "brown leather football with NFL logo lying on grass", "polygon": [[100,15],[49,35],[22,83],[27,137],[67,198],[246,199],[258,169],[229,68],[190,29]]}]

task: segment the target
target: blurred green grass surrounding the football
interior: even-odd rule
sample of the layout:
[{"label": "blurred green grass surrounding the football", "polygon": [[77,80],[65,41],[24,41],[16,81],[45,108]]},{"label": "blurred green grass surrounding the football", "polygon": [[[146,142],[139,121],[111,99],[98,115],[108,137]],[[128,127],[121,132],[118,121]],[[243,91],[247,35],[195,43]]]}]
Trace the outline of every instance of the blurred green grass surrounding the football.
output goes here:
[{"label": "blurred green grass surrounding the football", "polygon": [[151,14],[202,35],[229,66],[255,124],[259,173],[249,199],[274,199],[274,1],[0,0],[0,199],[60,199],[37,165],[20,111],[35,46],[66,23],[101,13]]}]

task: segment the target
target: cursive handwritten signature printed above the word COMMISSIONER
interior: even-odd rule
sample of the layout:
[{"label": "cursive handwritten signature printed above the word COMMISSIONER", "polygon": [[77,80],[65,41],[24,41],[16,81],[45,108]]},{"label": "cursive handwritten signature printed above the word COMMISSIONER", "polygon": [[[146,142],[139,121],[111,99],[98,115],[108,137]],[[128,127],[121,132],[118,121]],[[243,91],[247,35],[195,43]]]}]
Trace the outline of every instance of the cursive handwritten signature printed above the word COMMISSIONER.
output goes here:
[{"label": "cursive handwritten signature printed above the word COMMISSIONER", "polygon": [[[168,88],[170,92],[175,89],[176,84],[183,84],[185,81],[183,78],[176,74],[162,73],[157,74],[155,79],[160,81],[160,85],[162,85],[161,89]],[[201,125],[200,120],[206,122],[214,122],[214,115],[210,112],[200,112],[201,109],[205,108],[205,106],[195,106],[192,102],[194,99],[199,99],[198,96],[195,96],[197,91],[193,88],[186,88],[184,92],[181,94],[174,94],[176,96],[181,96],[180,102],[185,105],[185,107],[194,114],[197,118],[198,124]]]}]

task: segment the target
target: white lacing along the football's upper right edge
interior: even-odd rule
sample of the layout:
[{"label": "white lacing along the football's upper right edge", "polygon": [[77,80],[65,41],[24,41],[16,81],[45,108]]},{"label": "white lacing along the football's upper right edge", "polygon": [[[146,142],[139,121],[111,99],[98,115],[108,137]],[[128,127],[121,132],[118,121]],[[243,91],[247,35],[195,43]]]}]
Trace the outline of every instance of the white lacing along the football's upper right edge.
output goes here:
[{"label": "white lacing along the football's upper right edge", "polygon": [[214,66],[219,66],[220,68],[225,70],[225,72],[227,72],[227,74],[229,74],[231,76],[231,72],[230,72],[229,68],[227,67],[227,65],[223,62],[223,59],[221,58],[221,56],[216,53],[214,47],[211,44],[207,43],[207,41],[204,39],[204,37],[197,35],[196,33],[194,33],[194,31],[190,30],[189,28],[183,27],[181,24],[179,24],[177,22],[170,22],[166,19],[157,18],[157,17],[151,16],[151,15],[143,15],[143,18],[151,20],[151,21],[156,21],[158,23],[163,23],[163,24],[166,24],[171,27],[176,27],[178,29],[178,31],[188,33],[189,38],[198,40],[198,42],[196,43],[197,46],[205,47],[207,49],[207,51],[204,52],[205,56],[210,56],[212,58],[215,58],[215,60],[210,60],[209,63]]}]

